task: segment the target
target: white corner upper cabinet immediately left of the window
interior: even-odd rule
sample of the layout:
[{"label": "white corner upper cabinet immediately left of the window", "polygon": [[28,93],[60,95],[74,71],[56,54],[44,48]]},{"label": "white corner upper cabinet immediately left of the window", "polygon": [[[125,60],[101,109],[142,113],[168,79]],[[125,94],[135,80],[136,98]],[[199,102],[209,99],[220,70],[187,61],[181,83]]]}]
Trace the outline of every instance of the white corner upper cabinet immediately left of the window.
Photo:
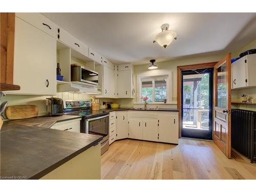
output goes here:
[{"label": "white corner upper cabinet immediately left of the window", "polygon": [[134,74],[131,64],[118,65],[118,98],[134,98]]}]

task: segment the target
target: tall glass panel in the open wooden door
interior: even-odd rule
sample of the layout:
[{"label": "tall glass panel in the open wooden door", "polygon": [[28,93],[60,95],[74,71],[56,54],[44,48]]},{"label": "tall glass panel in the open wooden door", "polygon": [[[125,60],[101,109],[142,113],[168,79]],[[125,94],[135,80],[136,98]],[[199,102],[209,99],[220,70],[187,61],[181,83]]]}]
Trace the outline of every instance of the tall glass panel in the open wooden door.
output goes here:
[{"label": "tall glass panel in the open wooden door", "polygon": [[226,108],[227,106],[227,72],[226,62],[217,69],[217,106]]}]

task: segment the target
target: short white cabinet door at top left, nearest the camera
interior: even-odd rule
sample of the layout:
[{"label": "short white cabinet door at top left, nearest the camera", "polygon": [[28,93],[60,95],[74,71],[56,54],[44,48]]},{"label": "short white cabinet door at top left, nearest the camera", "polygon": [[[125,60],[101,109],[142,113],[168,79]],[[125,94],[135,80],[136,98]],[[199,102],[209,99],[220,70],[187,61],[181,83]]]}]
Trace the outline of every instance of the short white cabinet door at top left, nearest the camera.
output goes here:
[{"label": "short white cabinet door at top left, nearest the camera", "polygon": [[57,38],[57,25],[40,13],[15,13],[15,15],[34,27]]}]

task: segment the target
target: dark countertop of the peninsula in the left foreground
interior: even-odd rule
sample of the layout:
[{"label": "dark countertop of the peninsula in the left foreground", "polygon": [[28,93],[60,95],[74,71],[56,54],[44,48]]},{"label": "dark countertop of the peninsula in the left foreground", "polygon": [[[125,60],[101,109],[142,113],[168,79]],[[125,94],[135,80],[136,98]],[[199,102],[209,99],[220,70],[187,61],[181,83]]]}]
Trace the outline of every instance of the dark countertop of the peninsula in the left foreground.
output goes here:
[{"label": "dark countertop of the peninsula in the left foreground", "polygon": [[[101,136],[25,126],[17,121],[4,122],[1,129],[1,179],[39,179],[102,140]],[[48,126],[47,122],[39,125]]]}]

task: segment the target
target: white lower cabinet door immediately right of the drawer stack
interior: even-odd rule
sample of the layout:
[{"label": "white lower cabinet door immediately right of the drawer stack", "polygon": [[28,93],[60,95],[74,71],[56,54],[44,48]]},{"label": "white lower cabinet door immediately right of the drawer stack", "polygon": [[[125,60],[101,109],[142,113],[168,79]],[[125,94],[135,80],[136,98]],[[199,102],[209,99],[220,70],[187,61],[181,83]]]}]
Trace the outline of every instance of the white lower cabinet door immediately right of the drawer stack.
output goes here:
[{"label": "white lower cabinet door immediately right of the drawer stack", "polygon": [[127,120],[127,112],[117,112],[116,116],[117,139],[128,138],[129,126]]}]

